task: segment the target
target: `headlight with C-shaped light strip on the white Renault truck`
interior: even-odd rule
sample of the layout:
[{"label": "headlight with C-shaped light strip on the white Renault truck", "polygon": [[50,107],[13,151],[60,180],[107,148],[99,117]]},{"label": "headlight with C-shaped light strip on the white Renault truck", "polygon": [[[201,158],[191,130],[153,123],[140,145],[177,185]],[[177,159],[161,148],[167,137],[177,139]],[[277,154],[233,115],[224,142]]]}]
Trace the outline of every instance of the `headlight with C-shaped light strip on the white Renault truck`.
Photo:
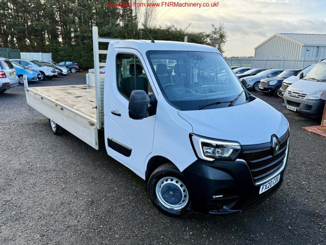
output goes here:
[{"label": "headlight with C-shaped light strip on the white Renault truck", "polygon": [[191,140],[199,158],[206,161],[235,160],[241,151],[241,145],[235,141],[207,139],[191,135]]}]

